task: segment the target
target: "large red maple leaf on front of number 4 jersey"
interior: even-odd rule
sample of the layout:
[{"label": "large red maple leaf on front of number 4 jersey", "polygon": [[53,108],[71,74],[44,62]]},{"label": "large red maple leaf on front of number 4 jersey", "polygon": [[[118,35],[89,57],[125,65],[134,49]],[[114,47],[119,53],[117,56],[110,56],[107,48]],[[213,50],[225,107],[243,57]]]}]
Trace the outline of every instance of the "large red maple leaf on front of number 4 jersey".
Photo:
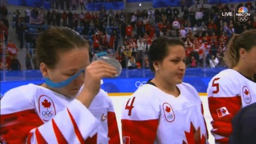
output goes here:
[{"label": "large red maple leaf on front of number 4 jersey", "polygon": [[201,138],[200,127],[198,127],[198,129],[196,130],[192,122],[190,122],[190,131],[185,131],[185,135],[187,142],[183,140],[182,144],[205,144],[205,135],[202,135]]}]

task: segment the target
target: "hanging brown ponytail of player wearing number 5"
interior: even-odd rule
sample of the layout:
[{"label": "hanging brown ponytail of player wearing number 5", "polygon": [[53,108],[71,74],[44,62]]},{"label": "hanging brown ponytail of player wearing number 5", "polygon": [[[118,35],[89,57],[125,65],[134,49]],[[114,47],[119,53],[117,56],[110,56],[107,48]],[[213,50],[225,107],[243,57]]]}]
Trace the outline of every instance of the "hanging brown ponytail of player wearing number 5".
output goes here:
[{"label": "hanging brown ponytail of player wearing number 5", "polygon": [[239,51],[237,51],[237,39],[239,35],[235,34],[228,42],[227,51],[224,56],[224,61],[229,68],[237,65],[239,60]]}]

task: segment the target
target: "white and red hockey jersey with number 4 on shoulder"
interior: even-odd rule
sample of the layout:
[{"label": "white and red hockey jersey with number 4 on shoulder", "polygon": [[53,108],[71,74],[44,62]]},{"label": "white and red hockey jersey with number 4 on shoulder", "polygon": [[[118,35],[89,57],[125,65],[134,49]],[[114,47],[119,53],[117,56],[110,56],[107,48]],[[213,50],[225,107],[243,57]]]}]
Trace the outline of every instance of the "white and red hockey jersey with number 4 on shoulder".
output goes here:
[{"label": "white and red hockey jersey with number 4 on shoulder", "polygon": [[127,143],[202,143],[207,141],[202,102],[195,88],[177,85],[175,98],[145,84],[127,101],[122,114],[122,137]]}]

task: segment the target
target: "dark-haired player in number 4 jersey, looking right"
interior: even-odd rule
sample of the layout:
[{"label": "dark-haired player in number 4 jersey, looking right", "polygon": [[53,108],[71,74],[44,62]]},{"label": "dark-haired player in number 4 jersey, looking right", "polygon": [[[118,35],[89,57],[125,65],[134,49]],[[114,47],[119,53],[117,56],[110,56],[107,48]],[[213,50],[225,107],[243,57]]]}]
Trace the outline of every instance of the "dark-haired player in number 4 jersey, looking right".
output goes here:
[{"label": "dark-haired player in number 4 jersey, looking right", "polygon": [[203,107],[196,89],[182,83],[183,42],[158,38],[149,48],[155,77],[139,87],[122,113],[124,143],[206,143]]}]

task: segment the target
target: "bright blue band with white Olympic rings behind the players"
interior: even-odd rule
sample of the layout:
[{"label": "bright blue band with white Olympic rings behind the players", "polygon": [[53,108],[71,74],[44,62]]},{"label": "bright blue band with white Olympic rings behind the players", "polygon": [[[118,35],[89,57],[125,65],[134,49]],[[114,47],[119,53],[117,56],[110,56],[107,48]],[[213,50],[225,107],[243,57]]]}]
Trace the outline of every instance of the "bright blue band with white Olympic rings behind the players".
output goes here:
[{"label": "bright blue band with white Olympic rings behind the players", "polygon": [[[133,93],[140,86],[147,83],[150,78],[113,78],[103,79],[101,88],[107,93]],[[211,77],[185,77],[183,82],[193,85],[200,93],[205,93]],[[1,82],[1,93],[29,83],[42,84],[44,81],[18,81],[18,82]]]}]

